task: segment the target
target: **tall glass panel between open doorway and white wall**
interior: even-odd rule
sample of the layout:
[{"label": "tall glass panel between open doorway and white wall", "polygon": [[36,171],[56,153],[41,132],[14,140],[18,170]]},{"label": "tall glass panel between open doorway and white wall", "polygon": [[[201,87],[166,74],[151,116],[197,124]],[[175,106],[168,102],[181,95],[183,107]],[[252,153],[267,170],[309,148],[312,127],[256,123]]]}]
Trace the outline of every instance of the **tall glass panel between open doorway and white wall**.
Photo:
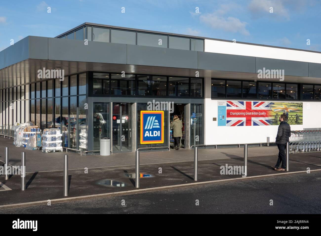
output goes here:
[{"label": "tall glass panel between open doorway and white wall", "polygon": [[203,104],[191,104],[190,145],[204,144]]}]

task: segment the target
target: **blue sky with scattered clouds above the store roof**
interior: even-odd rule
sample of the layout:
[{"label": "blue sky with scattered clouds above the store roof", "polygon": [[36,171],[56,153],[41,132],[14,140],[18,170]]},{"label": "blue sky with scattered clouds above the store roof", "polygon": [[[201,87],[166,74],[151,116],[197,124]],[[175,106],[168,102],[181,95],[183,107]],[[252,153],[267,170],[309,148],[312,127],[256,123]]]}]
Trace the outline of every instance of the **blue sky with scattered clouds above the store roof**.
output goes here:
[{"label": "blue sky with scattered clouds above the store roof", "polygon": [[1,0],[0,51],[83,22],[321,51],[320,0]]}]

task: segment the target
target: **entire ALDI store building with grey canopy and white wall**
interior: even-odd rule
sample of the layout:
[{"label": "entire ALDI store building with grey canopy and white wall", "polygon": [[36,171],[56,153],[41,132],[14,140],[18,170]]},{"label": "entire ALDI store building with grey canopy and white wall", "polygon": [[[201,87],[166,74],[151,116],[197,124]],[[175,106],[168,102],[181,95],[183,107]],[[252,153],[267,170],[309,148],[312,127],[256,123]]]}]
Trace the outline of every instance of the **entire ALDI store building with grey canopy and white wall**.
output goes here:
[{"label": "entire ALDI store building with grey canopy and white wall", "polygon": [[[56,38],[28,36],[0,52],[0,129],[59,127],[63,146],[113,153],[275,140],[319,128],[321,53],[84,23]],[[91,154],[91,153],[89,153]]]}]

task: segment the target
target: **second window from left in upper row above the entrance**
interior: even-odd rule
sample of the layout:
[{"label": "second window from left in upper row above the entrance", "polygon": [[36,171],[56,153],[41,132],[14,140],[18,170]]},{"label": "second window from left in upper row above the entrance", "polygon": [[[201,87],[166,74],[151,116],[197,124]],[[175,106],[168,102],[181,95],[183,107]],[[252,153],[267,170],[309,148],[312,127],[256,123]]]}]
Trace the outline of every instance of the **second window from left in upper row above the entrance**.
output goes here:
[{"label": "second window from left in upper row above the entrance", "polygon": [[135,95],[136,81],[134,74],[111,74],[111,88],[112,95]]}]

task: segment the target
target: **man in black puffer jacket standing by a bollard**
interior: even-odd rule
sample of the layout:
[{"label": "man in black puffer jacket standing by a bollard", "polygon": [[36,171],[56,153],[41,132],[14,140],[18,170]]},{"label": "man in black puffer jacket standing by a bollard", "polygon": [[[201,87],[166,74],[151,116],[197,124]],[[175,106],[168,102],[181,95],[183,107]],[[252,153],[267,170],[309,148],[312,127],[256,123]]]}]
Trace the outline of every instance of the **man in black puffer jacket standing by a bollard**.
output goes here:
[{"label": "man in black puffer jacket standing by a bollard", "polygon": [[[286,115],[281,115],[279,121],[281,121],[278,129],[278,134],[275,138],[275,144],[279,148],[279,158],[276,162],[274,170],[284,171],[286,168],[286,157],[285,157],[285,147],[286,143],[289,142],[289,137],[291,136],[291,128],[288,123],[286,123]],[[279,168],[282,162],[281,168]]]}]

